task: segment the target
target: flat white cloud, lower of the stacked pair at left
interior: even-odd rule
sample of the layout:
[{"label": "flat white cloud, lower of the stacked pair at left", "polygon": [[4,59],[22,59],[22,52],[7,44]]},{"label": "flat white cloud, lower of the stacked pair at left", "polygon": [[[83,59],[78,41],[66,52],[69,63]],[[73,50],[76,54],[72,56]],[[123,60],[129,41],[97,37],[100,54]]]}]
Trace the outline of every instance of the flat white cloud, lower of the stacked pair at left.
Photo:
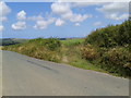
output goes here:
[{"label": "flat white cloud, lower of the stacked pair at left", "polygon": [[26,28],[26,23],[25,22],[17,22],[12,24],[12,28],[15,30],[20,30],[20,29],[25,29]]}]

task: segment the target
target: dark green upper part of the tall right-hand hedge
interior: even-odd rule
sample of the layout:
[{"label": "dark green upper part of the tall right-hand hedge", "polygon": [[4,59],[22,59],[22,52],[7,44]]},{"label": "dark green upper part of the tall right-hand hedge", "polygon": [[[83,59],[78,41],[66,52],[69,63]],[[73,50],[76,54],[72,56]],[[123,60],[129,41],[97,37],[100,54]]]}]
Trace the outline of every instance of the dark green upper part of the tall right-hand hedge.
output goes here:
[{"label": "dark green upper part of the tall right-hand hedge", "polygon": [[131,42],[131,21],[120,25],[108,25],[105,28],[96,29],[85,38],[84,44],[92,44],[98,47],[112,48],[126,46]]}]

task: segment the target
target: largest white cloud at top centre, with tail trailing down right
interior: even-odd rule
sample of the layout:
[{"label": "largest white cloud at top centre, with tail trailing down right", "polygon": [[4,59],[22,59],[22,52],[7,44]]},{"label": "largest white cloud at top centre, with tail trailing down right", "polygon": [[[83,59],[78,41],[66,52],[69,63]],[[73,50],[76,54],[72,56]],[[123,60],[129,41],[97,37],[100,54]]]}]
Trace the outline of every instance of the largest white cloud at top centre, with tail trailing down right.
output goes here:
[{"label": "largest white cloud at top centre, with tail trailing down right", "polygon": [[92,17],[92,15],[87,15],[87,14],[82,15],[82,14],[73,13],[71,8],[72,4],[66,2],[64,3],[57,2],[51,4],[52,13],[60,15],[61,19],[63,20],[70,20],[71,22],[83,22],[87,17]]}]

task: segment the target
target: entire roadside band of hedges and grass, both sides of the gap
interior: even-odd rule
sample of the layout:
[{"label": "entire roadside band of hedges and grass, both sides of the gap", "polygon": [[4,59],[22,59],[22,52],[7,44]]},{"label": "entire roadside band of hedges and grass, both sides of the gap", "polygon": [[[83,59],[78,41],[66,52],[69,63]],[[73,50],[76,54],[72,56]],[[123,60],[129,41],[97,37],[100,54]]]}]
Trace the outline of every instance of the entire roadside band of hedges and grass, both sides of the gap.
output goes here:
[{"label": "entire roadside band of hedges and grass, both sides of the gap", "polygon": [[4,46],[3,50],[67,63],[73,66],[131,76],[131,22],[108,25],[92,32],[86,38],[59,40],[37,38]]}]

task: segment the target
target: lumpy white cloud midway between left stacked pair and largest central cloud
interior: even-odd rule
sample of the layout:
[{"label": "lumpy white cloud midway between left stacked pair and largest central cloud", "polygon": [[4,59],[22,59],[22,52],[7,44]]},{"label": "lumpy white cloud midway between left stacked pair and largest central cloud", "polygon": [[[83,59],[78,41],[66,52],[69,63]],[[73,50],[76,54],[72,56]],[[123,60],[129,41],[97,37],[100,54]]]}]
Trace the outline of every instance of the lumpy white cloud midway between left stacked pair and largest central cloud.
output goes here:
[{"label": "lumpy white cloud midway between left stacked pair and largest central cloud", "polygon": [[37,21],[34,28],[36,29],[46,29],[48,25],[52,24],[55,22],[53,17],[48,19],[47,21]]}]

